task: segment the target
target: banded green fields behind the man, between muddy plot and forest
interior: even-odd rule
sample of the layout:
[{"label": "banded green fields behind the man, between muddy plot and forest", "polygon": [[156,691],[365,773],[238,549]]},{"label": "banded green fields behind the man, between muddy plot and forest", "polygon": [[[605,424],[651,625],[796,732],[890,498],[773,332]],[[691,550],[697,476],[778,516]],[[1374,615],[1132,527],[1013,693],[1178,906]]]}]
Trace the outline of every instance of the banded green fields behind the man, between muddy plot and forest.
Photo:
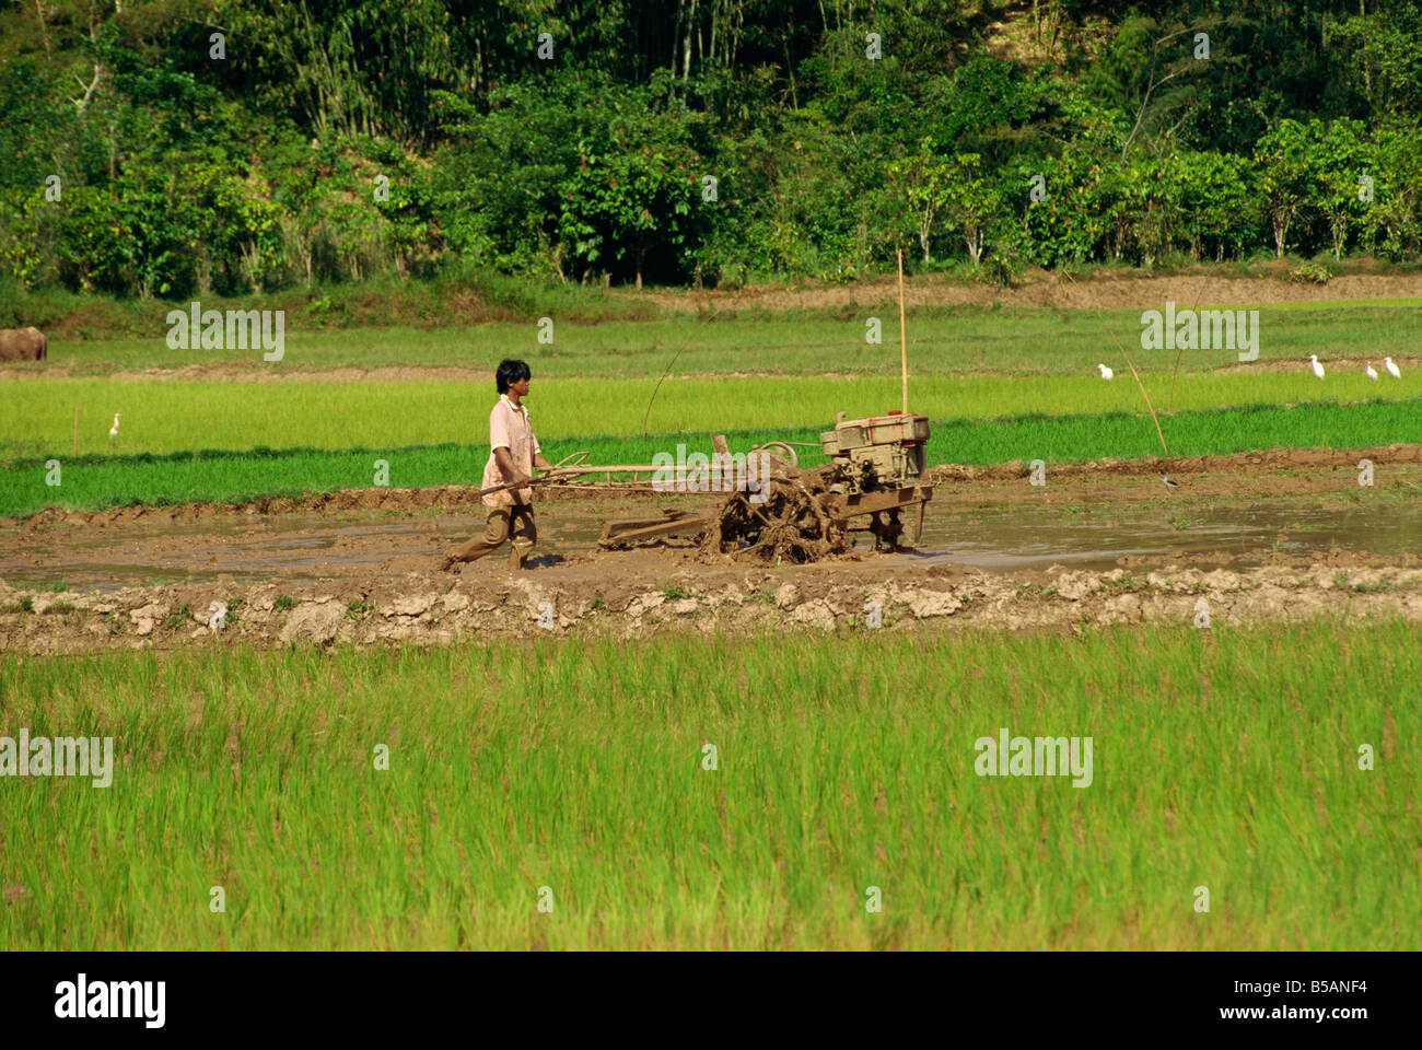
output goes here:
[{"label": "banded green fields behind the man, between muddy plot and forest", "polygon": [[[1234,370],[1234,354],[1213,350],[1186,351],[1177,377],[1167,351],[1136,351],[1133,360],[1172,454],[1416,442],[1422,370],[1411,360],[1401,380],[1369,381],[1357,366],[1330,366],[1320,381],[1304,354],[1379,364],[1385,354],[1405,357],[1402,347],[1418,344],[1418,316],[1409,300],[1268,307],[1260,356],[1295,361],[1273,371]],[[930,462],[1159,452],[1146,401],[1108,329],[1138,346],[1133,312],[913,312],[910,407],[934,421]],[[247,363],[260,377],[397,363],[488,367],[522,354],[535,370],[529,405],[547,457],[587,451],[594,464],[650,462],[680,442],[705,450],[715,433],[729,435],[734,450],[772,438],[815,441],[836,413],[882,414],[900,403],[893,333],[887,344],[865,346],[863,317],[853,312],[660,316],[557,332],[553,346],[538,346],[530,324],[296,332],[286,360]],[[162,339],[71,343],[55,349],[51,364],[94,374],[4,384],[0,515],[370,487],[378,458],[390,462],[395,487],[472,482],[482,472],[493,400],[486,381],[104,374],[203,360],[239,357],[169,351]],[[1098,360],[1116,368],[1115,381],[1096,376]],[[109,440],[115,413],[122,424]],[[161,458],[185,452],[201,455]],[[60,460],[60,487],[46,484],[50,458]],[[808,460],[816,461],[813,451]]]}]

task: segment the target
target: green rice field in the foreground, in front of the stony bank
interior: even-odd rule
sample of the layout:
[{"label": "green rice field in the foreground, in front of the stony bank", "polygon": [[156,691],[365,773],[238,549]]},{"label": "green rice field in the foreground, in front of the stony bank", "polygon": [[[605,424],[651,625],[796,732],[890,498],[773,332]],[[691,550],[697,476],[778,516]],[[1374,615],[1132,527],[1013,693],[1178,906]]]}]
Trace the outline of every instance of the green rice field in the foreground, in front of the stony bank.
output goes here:
[{"label": "green rice field in the foreground, in front of the stony bank", "polygon": [[[4,656],[0,733],[115,760],[0,778],[0,949],[1415,950],[1419,640]],[[1091,737],[1091,784],[975,775],[1001,727]]]}]

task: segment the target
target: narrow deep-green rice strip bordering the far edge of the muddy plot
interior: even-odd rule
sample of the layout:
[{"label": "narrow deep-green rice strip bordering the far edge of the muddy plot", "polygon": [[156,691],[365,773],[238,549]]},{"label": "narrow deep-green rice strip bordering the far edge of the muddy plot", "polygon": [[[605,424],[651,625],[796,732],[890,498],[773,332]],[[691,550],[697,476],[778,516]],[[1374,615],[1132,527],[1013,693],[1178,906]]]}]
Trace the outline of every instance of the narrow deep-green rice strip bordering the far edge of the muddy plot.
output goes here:
[{"label": "narrow deep-green rice strip bordering the far edge of the muddy plot", "polygon": [[[1303,404],[1297,408],[1241,408],[1177,413],[1162,421],[1173,455],[1221,455],[1258,448],[1367,448],[1395,441],[1422,442],[1422,403]],[[819,428],[731,431],[732,452],[771,437],[818,441]],[[646,438],[574,437],[545,440],[549,461],[587,451],[589,462],[646,462],[657,454],[710,452],[704,434],[656,434]],[[801,448],[801,462],[823,462],[818,448]],[[169,455],[61,458],[60,485],[47,484],[46,460],[30,458],[0,468],[0,518],[46,507],[101,509],[129,504],[240,502],[263,495],[300,495],[338,488],[371,488],[384,460],[394,488],[478,484],[488,445],[407,445],[344,451],[257,450],[173,452]],[[934,421],[929,462],[990,465],[1011,460],[1081,462],[1102,457],[1159,455],[1149,417],[1018,417]]]}]

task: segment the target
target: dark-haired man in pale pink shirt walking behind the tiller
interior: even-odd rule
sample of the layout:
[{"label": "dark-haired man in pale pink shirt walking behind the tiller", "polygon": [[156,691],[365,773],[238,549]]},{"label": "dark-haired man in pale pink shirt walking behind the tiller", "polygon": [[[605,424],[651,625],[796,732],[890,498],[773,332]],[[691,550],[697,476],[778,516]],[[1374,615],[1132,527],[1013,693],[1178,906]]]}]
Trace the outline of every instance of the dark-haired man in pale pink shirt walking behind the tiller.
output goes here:
[{"label": "dark-haired man in pale pink shirt walking behind the tiller", "polygon": [[483,504],[489,508],[483,535],[449,552],[441,566],[445,572],[464,562],[483,558],[502,546],[505,539],[512,543],[509,568],[522,569],[538,542],[538,531],[533,528],[533,489],[526,482],[533,478],[535,467],[547,471],[553,464],[543,458],[529,423],[529,410],[523,405],[532,378],[533,373],[523,361],[499,361],[499,368],[493,374],[499,403],[489,413],[489,461],[483,465],[483,484],[479,488],[506,482],[516,482],[516,487],[483,497]]}]

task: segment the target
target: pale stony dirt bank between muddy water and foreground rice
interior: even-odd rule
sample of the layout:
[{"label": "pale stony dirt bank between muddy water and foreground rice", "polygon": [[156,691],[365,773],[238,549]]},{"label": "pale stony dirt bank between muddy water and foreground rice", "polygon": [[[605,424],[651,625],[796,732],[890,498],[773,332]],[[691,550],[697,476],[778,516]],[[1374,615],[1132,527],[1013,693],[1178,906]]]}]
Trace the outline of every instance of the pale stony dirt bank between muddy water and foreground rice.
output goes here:
[{"label": "pale stony dirt bank between muddy water and foreground rice", "polygon": [[[233,599],[239,599],[235,602]],[[212,603],[228,606],[209,625]],[[24,606],[24,608],[23,608]],[[1422,622],[1422,568],[1133,573],[1048,569],[923,573],[872,565],[793,571],[630,568],[600,579],[486,569],[451,582],[282,588],[205,583],[131,588],[114,596],[21,592],[0,585],[0,649],[23,654],[256,645],[449,645],[495,637],[611,633],[646,637],[755,632],[1082,630],[1113,623],[1217,626],[1330,616]]]}]

